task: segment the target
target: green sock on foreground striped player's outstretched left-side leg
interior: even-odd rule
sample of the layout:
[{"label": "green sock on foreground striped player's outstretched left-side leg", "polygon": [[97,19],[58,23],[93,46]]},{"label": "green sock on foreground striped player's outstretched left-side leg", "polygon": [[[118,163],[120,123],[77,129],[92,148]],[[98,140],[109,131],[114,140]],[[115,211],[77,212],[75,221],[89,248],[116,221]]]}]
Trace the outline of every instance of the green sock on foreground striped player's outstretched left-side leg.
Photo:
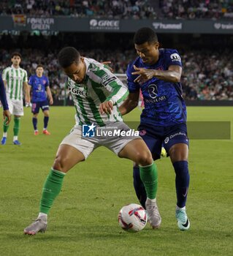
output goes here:
[{"label": "green sock on foreground striped player's outstretched left-side leg", "polygon": [[58,170],[50,170],[48,174],[44,187],[42,189],[42,198],[39,204],[39,212],[48,214],[50,208],[53,205],[53,201],[61,191],[63,184],[63,179],[66,173],[62,173]]}]

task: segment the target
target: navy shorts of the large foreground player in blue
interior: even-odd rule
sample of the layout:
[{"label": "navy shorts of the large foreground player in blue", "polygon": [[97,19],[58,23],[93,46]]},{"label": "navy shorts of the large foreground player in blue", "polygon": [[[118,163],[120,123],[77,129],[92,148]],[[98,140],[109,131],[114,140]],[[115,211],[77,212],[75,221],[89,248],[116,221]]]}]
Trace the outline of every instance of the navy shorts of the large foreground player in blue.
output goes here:
[{"label": "navy shorts of the large foreground player in blue", "polygon": [[138,129],[154,160],[160,158],[161,146],[164,146],[168,153],[169,149],[177,143],[188,145],[187,126],[184,123],[175,124],[171,127],[150,127],[146,124],[140,124]]}]

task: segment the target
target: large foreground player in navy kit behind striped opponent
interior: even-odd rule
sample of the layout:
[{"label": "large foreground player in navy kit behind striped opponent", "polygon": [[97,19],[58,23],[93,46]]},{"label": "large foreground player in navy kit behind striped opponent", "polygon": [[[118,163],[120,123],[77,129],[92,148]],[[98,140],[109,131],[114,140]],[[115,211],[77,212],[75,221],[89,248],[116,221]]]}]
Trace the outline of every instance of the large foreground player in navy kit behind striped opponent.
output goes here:
[{"label": "large foreground player in navy kit behind striped opponent", "polygon": [[[139,57],[128,66],[129,97],[119,110],[125,115],[136,108],[142,90],[145,108],[141,114],[140,135],[154,160],[160,158],[161,145],[164,143],[176,174],[177,225],[180,230],[188,230],[188,137],[186,105],[180,84],[180,55],[174,49],[159,49],[157,35],[150,28],[139,29],[134,34],[134,47]],[[140,203],[145,206],[146,192],[137,165],[134,166],[134,189]]]}]

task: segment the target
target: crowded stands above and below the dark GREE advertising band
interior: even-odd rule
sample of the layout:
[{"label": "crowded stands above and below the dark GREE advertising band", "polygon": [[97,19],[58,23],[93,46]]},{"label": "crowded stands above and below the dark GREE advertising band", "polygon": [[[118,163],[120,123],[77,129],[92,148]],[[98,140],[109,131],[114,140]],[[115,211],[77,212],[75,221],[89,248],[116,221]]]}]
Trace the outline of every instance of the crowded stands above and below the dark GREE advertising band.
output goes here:
[{"label": "crowded stands above and below the dark GREE advertising band", "polygon": [[[231,19],[233,0],[1,0],[0,18],[4,15],[26,14],[33,17],[75,16],[118,19]],[[219,25],[220,24],[220,25]],[[216,30],[219,27],[216,26]],[[230,25],[233,26],[233,25]],[[137,29],[137,28],[135,28]],[[222,29],[224,31],[224,29]],[[226,30],[226,29],[225,29]],[[46,32],[46,31],[45,31]],[[166,33],[166,31],[164,31]],[[221,31],[219,32],[221,33]],[[38,30],[0,31],[0,72],[10,65],[10,54],[18,50],[23,56],[21,66],[34,74],[37,64],[43,64],[50,79],[53,96],[64,100],[65,77],[57,63],[62,47],[72,45],[83,56],[98,61],[112,61],[116,73],[125,73],[129,61],[136,57],[133,32],[61,32],[43,34]],[[158,33],[162,48],[176,48],[183,61],[183,94],[190,100],[233,100],[233,37],[229,34]]]}]

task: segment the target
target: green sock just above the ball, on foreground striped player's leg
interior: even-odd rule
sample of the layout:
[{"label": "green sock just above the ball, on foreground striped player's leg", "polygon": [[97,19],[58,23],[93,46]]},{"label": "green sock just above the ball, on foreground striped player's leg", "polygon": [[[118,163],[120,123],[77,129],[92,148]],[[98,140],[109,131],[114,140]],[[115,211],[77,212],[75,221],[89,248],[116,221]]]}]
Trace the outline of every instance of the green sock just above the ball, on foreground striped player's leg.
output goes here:
[{"label": "green sock just above the ball, on foreground striped player's leg", "polygon": [[148,198],[156,198],[158,187],[158,171],[156,164],[153,163],[147,166],[140,166],[140,177],[145,186]]}]

